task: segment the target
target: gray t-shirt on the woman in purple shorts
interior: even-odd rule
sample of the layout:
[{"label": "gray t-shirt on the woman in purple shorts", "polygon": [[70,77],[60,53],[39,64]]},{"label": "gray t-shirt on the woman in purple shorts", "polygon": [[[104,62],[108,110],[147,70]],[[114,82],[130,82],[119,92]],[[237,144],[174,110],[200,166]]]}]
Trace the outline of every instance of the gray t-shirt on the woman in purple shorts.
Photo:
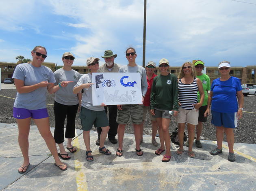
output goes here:
[{"label": "gray t-shirt on the woman in purple shorts", "polygon": [[[24,85],[35,85],[42,81],[55,83],[52,70],[46,66],[35,67],[31,63],[18,64],[13,73],[14,79],[24,81]],[[47,87],[39,87],[29,93],[17,93],[14,107],[30,110],[46,108]]]}]

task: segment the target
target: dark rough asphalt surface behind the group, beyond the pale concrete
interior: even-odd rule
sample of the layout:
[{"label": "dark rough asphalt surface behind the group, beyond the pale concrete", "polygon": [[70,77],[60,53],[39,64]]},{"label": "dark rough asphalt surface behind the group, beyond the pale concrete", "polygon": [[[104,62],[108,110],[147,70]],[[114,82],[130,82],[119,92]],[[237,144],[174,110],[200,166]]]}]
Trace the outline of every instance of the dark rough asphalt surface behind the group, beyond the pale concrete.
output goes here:
[{"label": "dark rough asphalt surface behind the group, beyond the pale concrete", "polygon": [[[17,91],[15,85],[13,84],[1,84],[2,90],[0,91],[0,123],[16,123],[15,119],[12,117],[14,98],[16,97]],[[8,89],[4,89],[8,88]],[[10,89],[9,89],[10,88]],[[4,97],[5,96],[5,97]],[[256,96],[246,96],[244,97],[244,112],[243,118],[238,121],[238,127],[234,129],[235,142],[241,143],[252,143],[256,144]],[[54,94],[47,94],[47,109],[50,116],[50,127],[55,127],[53,104],[54,104]],[[208,117],[208,121],[204,123],[201,139],[203,140],[216,140],[215,127],[210,123],[211,115]],[[34,125],[34,123],[31,123]],[[169,132],[171,133],[177,127],[177,123],[174,118],[171,119],[169,126]],[[81,123],[79,115],[76,117],[76,128],[81,129]],[[92,130],[96,130],[93,128]],[[133,134],[132,123],[129,121],[126,126],[126,133]],[[147,115],[144,123],[143,134],[151,135],[152,126]],[[187,129],[186,129],[187,133]],[[224,138],[226,140],[226,138]]]}]

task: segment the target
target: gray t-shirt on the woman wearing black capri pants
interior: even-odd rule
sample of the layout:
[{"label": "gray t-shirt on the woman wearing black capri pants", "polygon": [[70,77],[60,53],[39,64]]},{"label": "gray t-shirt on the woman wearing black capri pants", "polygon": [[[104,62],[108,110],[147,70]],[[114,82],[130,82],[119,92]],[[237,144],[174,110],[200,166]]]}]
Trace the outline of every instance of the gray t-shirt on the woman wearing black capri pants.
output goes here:
[{"label": "gray t-shirt on the woman wearing black capri pants", "polygon": [[64,70],[60,68],[54,72],[54,77],[56,80],[56,85],[61,83],[62,81],[74,81],[67,84],[67,87],[61,87],[58,91],[56,91],[54,100],[59,104],[73,106],[78,104],[77,94],[73,93],[73,87],[76,85],[78,80],[80,79],[79,72],[75,70]]}]

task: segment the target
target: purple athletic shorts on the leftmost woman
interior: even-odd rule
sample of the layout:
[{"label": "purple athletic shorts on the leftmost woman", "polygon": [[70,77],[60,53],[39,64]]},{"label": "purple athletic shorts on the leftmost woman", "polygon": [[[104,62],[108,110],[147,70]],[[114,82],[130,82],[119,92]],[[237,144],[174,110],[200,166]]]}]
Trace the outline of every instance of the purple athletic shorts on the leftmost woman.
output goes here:
[{"label": "purple athletic shorts on the leftmost woman", "polygon": [[28,117],[32,119],[43,119],[49,117],[49,115],[46,108],[30,110],[13,107],[13,117],[16,119],[26,119]]}]

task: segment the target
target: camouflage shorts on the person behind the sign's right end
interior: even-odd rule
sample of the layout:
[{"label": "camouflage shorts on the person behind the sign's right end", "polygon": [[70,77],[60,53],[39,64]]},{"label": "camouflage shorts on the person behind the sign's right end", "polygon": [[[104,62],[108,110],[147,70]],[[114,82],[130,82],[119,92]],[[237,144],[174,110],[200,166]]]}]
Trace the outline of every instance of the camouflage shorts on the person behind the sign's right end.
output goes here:
[{"label": "camouflage shorts on the person behind the sign's right end", "polygon": [[119,124],[128,123],[130,117],[132,123],[141,124],[143,120],[143,105],[122,105],[122,110],[117,111],[117,123]]}]

